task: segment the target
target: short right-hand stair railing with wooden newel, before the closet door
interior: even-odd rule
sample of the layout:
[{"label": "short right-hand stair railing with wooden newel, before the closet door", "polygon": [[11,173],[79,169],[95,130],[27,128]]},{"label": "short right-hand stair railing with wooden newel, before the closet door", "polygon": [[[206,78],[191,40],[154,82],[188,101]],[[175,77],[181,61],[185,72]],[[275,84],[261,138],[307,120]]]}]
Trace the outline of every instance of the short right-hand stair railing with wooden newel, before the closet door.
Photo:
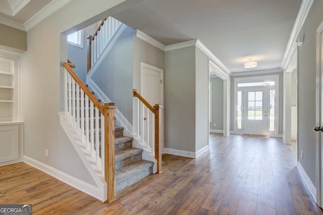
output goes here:
[{"label": "short right-hand stair railing with wooden newel, before the closet door", "polygon": [[[151,153],[154,154],[157,161],[157,173],[161,173],[161,106],[160,104],[150,105],[138,92],[133,89],[133,97],[137,97],[138,102],[138,136],[141,137],[142,142],[146,142],[147,148],[151,147]],[[145,112],[150,111],[154,117],[152,118],[152,132],[149,131],[149,114]],[[144,118],[144,116],[146,116]],[[144,120],[147,122],[144,128]],[[150,133],[153,133],[153,137],[150,137]],[[151,142],[151,146],[149,143]]]}]

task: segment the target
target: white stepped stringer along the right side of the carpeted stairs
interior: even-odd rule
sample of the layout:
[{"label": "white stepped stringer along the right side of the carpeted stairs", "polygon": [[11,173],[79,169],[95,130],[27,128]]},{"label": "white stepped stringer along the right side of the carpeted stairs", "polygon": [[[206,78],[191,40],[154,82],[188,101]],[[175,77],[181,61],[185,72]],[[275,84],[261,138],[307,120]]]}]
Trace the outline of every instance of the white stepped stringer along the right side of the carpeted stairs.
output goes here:
[{"label": "white stepped stringer along the right side of the carpeted stairs", "polygon": [[[101,103],[104,104],[104,103],[112,102],[92,80],[87,82],[87,84],[90,91],[94,92],[96,98],[101,100]],[[139,148],[143,150],[142,159],[154,162],[152,172],[156,173],[157,160],[151,153],[148,152],[146,147],[141,144],[141,140],[136,135],[133,134],[132,124],[126,119],[126,117],[120,112],[118,108],[115,109],[115,117],[116,117],[115,124],[118,126],[124,127],[124,136],[129,136],[133,138],[132,146],[134,148]]]}]

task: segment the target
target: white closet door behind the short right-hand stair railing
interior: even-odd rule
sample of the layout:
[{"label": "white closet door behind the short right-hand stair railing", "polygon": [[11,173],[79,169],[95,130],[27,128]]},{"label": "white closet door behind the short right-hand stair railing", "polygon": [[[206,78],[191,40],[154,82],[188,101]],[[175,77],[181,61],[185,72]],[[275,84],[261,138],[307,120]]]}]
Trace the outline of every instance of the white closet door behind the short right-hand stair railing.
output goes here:
[{"label": "white closet door behind the short right-hand stair railing", "polygon": [[[142,97],[151,105],[162,104],[162,69],[142,64],[140,69],[140,93]],[[143,107],[141,110],[143,120],[143,142],[149,150],[153,150],[154,144],[154,114]]]}]

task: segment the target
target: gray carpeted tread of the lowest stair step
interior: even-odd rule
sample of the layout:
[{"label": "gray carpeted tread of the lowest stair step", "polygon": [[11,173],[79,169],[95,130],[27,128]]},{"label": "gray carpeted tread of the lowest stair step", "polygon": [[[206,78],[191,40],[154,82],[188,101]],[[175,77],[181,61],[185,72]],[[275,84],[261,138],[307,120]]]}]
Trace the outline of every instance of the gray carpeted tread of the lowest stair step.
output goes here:
[{"label": "gray carpeted tread of the lowest stair step", "polygon": [[129,164],[119,170],[116,170],[116,183],[122,181],[123,179],[129,178],[131,177],[131,175],[141,172],[142,170],[152,167],[153,164],[154,163],[152,161],[140,160],[133,164]]}]

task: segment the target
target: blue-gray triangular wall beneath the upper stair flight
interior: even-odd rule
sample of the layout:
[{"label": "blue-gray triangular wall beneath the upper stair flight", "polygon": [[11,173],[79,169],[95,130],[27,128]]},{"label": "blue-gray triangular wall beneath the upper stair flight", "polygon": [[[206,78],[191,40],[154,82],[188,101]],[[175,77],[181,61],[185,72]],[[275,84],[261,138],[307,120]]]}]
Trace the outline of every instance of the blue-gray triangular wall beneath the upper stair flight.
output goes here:
[{"label": "blue-gray triangular wall beneath the upper stair flight", "polygon": [[93,82],[112,102],[115,102],[130,123],[132,123],[133,53],[133,29],[127,27],[92,76]]}]

